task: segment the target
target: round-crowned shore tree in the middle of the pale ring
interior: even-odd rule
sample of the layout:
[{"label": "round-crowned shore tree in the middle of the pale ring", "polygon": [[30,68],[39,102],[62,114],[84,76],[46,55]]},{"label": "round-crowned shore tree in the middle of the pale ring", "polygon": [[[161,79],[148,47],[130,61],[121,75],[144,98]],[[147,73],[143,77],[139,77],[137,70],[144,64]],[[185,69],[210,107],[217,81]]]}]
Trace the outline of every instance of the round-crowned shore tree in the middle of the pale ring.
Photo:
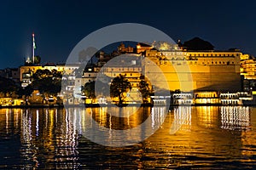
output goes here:
[{"label": "round-crowned shore tree in the middle of the pale ring", "polygon": [[123,104],[125,100],[124,93],[131,89],[131,83],[122,75],[113,78],[110,85],[110,96],[119,98],[119,105]]}]

